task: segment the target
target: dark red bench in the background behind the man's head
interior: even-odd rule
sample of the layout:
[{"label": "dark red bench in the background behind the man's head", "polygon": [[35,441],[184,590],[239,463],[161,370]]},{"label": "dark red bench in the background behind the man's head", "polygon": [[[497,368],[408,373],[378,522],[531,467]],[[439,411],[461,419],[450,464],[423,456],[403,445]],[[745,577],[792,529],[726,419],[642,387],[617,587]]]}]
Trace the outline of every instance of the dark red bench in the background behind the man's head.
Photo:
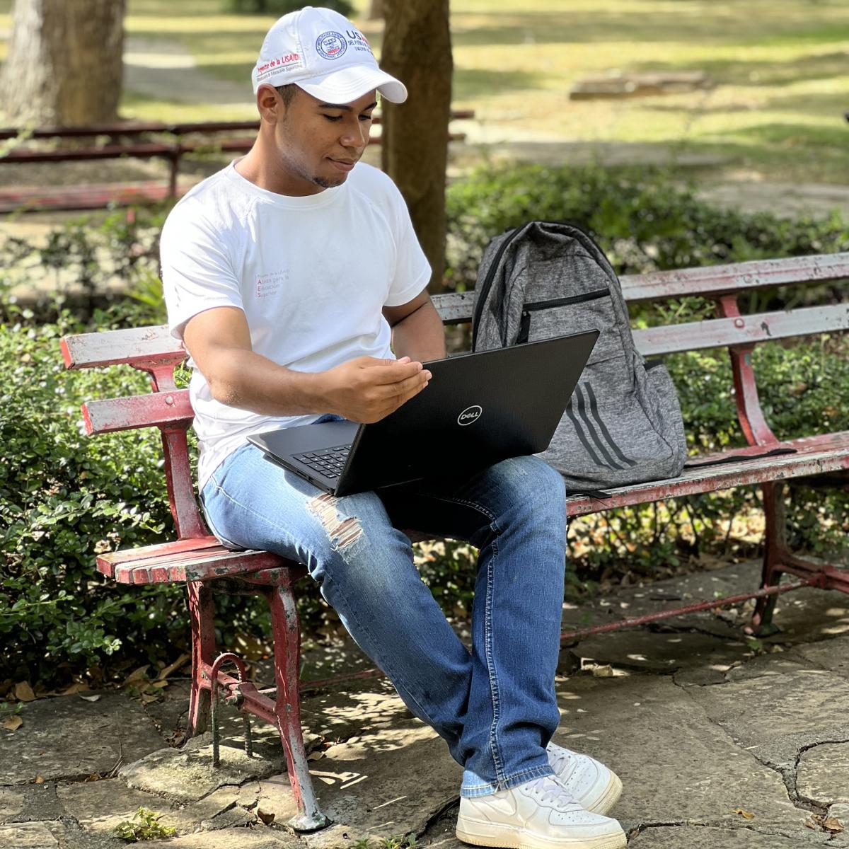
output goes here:
[{"label": "dark red bench in the background behind the man's head", "polygon": [[[452,110],[452,120],[469,120],[472,110]],[[374,115],[374,126],[380,125],[380,115]],[[20,130],[0,129],[0,143],[12,145],[0,154],[0,165],[45,164],[54,162],[93,162],[121,158],[152,160],[169,163],[168,180],[136,184],[95,183],[91,185],[36,188],[8,188],[0,192],[0,214],[16,211],[88,210],[109,205],[136,205],[169,200],[184,194],[186,189],[177,183],[180,160],[186,155],[244,154],[253,146],[259,121],[204,121],[166,124],[162,121],[125,121],[89,127],[40,127]],[[222,132],[249,132],[249,136],[221,138]],[[163,138],[166,137],[166,138]],[[465,138],[462,132],[452,132],[450,141]],[[53,142],[72,139],[85,146],[49,149],[33,147],[31,142]],[[98,139],[105,139],[99,144]],[[18,145],[15,146],[15,142]],[[380,136],[372,136],[370,144],[380,144]]]}]

